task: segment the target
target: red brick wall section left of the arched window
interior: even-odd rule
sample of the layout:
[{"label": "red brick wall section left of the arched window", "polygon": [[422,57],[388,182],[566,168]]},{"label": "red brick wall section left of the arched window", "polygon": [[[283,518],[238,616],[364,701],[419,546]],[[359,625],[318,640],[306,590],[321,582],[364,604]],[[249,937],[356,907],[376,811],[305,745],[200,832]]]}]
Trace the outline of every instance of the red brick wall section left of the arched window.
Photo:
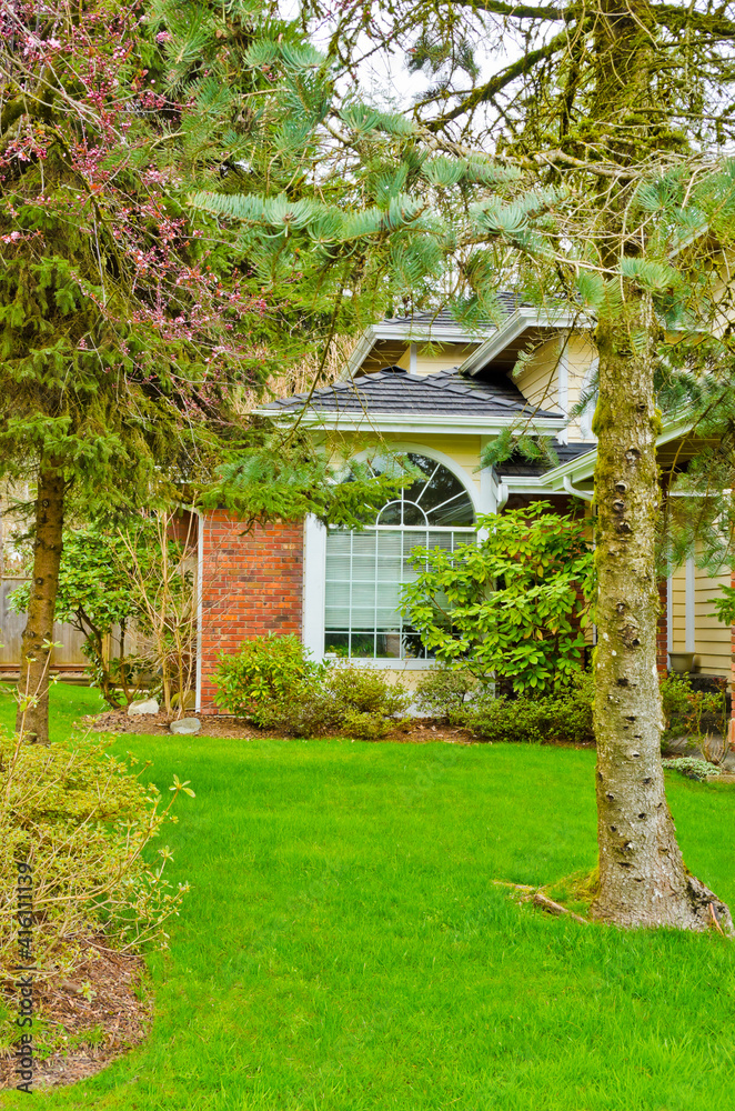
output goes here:
[{"label": "red brick wall section left of the arched window", "polygon": [[201,674],[204,713],[217,713],[220,652],[265,633],[301,635],[303,523],[274,521],[243,533],[224,510],[202,519]]}]

